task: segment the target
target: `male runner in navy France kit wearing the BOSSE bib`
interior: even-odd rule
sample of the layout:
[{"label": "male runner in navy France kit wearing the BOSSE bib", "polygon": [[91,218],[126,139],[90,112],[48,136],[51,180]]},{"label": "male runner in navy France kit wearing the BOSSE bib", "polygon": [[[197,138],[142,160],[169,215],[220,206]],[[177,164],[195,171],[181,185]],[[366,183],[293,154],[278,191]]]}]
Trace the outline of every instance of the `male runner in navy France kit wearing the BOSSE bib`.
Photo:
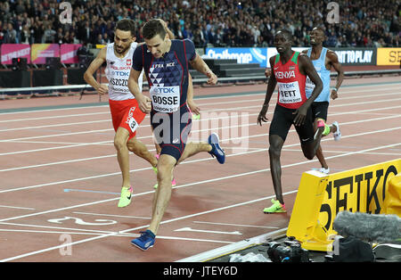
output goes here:
[{"label": "male runner in navy France kit wearing the BOSSE bib", "polygon": [[[205,74],[208,83],[217,83],[217,76],[196,54],[189,39],[170,40],[166,29],[158,20],[143,26],[145,45],[135,49],[133,67],[128,78],[128,88],[138,102],[141,111],[151,113],[153,136],[160,144],[158,162],[158,185],[153,200],[151,224],[141,236],[131,241],[145,251],[153,246],[161,218],[171,196],[171,174],[176,164],[198,153],[209,152],[221,164],[225,152],[218,144],[217,134],[209,136],[208,143],[188,143],[192,113],[187,106],[189,63],[192,68]],[[138,87],[138,78],[144,70],[150,86],[150,95],[143,95]]]}]

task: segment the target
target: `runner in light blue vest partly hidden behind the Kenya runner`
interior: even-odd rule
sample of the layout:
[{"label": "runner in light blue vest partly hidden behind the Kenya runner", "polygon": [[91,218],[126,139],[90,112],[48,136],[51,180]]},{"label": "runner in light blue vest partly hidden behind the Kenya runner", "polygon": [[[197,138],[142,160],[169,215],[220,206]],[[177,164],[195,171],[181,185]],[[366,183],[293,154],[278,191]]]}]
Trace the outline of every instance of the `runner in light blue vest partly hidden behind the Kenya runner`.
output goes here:
[{"label": "runner in light blue vest partly hidden behind the Kenya runner", "polygon": [[[318,122],[324,123],[324,131],[322,136],[327,136],[332,133],[334,140],[339,141],[341,138],[340,126],[337,121],[334,121],[331,126],[327,125],[325,122],[327,120],[327,112],[329,109],[330,98],[332,100],[338,97],[338,90],[341,86],[342,80],[344,79],[344,72],[342,70],[341,64],[337,57],[337,54],[333,51],[323,47],[323,41],[325,39],[324,31],[321,28],[312,29],[310,33],[310,45],[311,48],[303,51],[304,54],[310,57],[310,60],[315,66],[317,74],[323,81],[323,90],[320,95],[318,95],[311,105],[314,128],[318,127]],[[332,87],[330,90],[330,71],[331,67],[337,71],[337,82],[336,86]],[[307,78],[307,86],[305,88],[307,98],[312,95],[312,91],[315,88],[315,84]],[[320,126],[319,126],[320,127]],[[319,169],[320,172],[328,174],[330,172],[327,162],[324,160],[322,146],[316,151],[316,157],[320,161],[322,168]]]}]

